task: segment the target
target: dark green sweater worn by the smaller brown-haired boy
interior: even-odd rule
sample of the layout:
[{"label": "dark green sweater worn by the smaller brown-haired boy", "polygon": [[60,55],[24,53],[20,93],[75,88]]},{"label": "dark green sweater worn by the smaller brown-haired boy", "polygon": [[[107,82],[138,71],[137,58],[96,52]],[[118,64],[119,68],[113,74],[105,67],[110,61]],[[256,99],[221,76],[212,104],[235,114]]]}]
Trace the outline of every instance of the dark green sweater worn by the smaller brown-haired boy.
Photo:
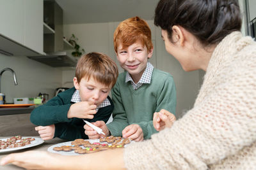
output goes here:
[{"label": "dark green sweater worn by the smaller brown-haired boy", "polygon": [[[53,97],[46,104],[38,106],[31,112],[30,121],[35,125],[55,125],[54,138],[74,140],[78,138],[88,139],[84,134],[84,122],[81,118],[67,118],[68,110],[71,104],[71,98],[76,89],[68,89]],[[105,123],[114,109],[113,102],[108,97],[111,105],[99,108],[93,119],[85,119],[88,122],[103,120]]]}]

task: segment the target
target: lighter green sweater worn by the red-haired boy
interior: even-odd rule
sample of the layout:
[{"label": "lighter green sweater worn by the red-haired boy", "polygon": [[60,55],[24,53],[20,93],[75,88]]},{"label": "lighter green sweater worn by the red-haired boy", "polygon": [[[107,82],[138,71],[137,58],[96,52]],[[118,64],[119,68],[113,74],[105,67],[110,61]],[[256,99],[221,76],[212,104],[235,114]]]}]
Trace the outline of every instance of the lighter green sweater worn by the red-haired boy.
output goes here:
[{"label": "lighter green sweater worn by the red-haired boy", "polygon": [[152,122],[154,112],[165,109],[175,114],[176,90],[173,77],[154,69],[150,84],[144,83],[134,90],[130,81],[125,83],[126,73],[119,74],[112,89],[115,109],[113,122],[107,126],[113,136],[122,136],[127,125],[138,124],[143,130],[144,139],[148,139],[157,132]]}]

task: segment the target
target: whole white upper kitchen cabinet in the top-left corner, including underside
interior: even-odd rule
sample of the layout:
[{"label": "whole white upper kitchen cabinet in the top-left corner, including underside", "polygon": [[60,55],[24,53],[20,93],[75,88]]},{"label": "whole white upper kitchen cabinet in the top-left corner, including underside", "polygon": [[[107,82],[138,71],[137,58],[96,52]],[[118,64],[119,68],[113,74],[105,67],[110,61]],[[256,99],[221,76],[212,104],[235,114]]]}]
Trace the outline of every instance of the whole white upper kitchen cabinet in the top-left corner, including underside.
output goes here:
[{"label": "whole white upper kitchen cabinet in the top-left corner, including underside", "polygon": [[0,50],[10,55],[43,53],[43,0],[0,1]]}]

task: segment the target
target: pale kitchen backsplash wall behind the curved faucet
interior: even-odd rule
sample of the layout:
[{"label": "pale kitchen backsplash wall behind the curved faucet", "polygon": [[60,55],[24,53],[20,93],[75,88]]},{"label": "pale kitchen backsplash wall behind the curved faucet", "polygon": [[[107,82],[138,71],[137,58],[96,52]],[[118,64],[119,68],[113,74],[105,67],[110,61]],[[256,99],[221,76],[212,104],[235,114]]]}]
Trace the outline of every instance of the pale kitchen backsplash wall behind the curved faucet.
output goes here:
[{"label": "pale kitchen backsplash wall behind the curved faucet", "polygon": [[12,68],[17,76],[14,85],[13,75],[5,71],[1,78],[1,92],[6,94],[6,102],[13,103],[13,97],[36,97],[39,92],[54,96],[54,90],[61,87],[62,71],[46,66],[27,57],[13,57],[0,54],[0,70]]}]

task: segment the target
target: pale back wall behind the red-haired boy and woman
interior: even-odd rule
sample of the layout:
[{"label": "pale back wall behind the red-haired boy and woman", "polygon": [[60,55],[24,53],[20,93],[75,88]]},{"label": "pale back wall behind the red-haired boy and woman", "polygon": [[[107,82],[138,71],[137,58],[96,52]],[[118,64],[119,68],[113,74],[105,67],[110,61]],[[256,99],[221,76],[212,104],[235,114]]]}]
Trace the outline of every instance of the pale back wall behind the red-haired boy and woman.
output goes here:
[{"label": "pale back wall behind the red-haired boy and woman", "polygon": [[[150,62],[154,67],[166,71],[173,75],[177,88],[177,117],[181,117],[182,113],[193,107],[195,98],[202,83],[203,75],[199,71],[185,72],[179,62],[166,52],[161,31],[154,25],[153,20],[148,20],[148,25],[152,31],[152,41],[154,44],[154,54]],[[85,52],[102,52],[112,57],[117,65],[115,51],[113,48],[113,32],[119,22],[97,23],[97,24],[70,24],[64,25],[64,35],[69,38],[74,33],[79,38],[78,44],[81,45]],[[122,68],[119,66],[119,71]],[[74,70],[63,71],[62,83],[65,87],[72,87]]]}]

